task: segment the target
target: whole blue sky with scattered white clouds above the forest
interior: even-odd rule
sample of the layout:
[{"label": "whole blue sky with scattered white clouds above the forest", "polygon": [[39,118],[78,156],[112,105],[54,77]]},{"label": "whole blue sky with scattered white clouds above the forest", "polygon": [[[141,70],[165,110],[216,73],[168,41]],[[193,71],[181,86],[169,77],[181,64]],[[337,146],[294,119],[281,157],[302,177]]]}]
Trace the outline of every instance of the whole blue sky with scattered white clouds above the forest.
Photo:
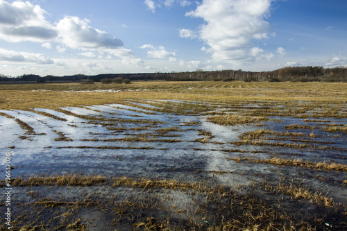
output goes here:
[{"label": "whole blue sky with scattered white clouds above the forest", "polygon": [[347,67],[346,0],[0,0],[0,74]]}]

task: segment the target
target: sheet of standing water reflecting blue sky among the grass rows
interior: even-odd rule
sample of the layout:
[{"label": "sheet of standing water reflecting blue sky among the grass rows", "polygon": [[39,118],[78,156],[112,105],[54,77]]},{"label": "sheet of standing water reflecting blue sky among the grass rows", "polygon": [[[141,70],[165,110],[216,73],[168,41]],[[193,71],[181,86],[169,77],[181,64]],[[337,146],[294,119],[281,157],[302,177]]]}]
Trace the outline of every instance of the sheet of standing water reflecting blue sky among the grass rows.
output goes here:
[{"label": "sheet of standing water reflecting blue sky among the grass rows", "polygon": [[[346,119],[304,121],[296,117],[269,117],[271,120],[262,124],[221,126],[208,122],[208,116],[158,111],[161,104],[194,105],[194,102],[130,103],[134,106],[110,104],[61,110],[35,108],[30,112],[1,110],[8,117],[0,115],[0,150],[1,153],[10,153],[12,157],[12,178],[40,176],[42,173],[45,176],[81,173],[107,178],[126,176],[192,184],[205,182],[239,191],[240,194],[245,193],[243,189],[253,191],[253,194],[273,203],[279,203],[280,194],[283,198],[288,195],[295,198],[281,184],[295,185],[301,187],[300,190],[321,192],[335,203],[346,206],[347,174],[336,166],[341,164],[343,169],[347,164],[347,135],[344,132],[328,132],[326,128],[331,123],[346,126]],[[230,110],[224,105],[211,105]],[[253,103],[246,106],[262,107]],[[245,134],[254,136],[260,133],[248,140],[243,137]],[[237,143],[240,141],[244,143]],[[0,157],[0,163],[5,163],[5,155]],[[316,167],[312,164],[316,164]],[[332,167],[332,170],[323,169],[324,164]],[[107,190],[103,187],[107,187]],[[139,196],[146,203],[150,199],[151,203],[158,200],[158,197],[147,198],[144,189],[136,187],[103,187],[45,189],[46,193],[41,197],[57,201],[63,198],[83,201],[88,199],[86,195],[100,194],[104,190],[103,200],[115,195],[122,195],[120,201],[131,198],[129,201],[133,203],[139,201]],[[40,191],[42,188],[45,187],[28,190]],[[18,194],[26,190],[26,187],[20,187]],[[162,194],[165,198],[158,202],[158,206],[162,206],[162,216],[170,214],[172,219],[180,220],[186,217],[183,214],[190,214],[189,209],[194,209],[196,205],[203,207],[205,192],[195,195],[192,187],[187,189],[189,192],[183,189],[162,190],[155,192],[155,195]],[[33,196],[28,196],[28,191],[23,195],[21,200],[24,202],[34,201]],[[80,196],[75,198],[74,195]],[[302,200],[307,201],[307,206],[313,201]],[[288,208],[287,203],[280,203],[283,211]],[[128,205],[122,206],[128,209]],[[81,209],[78,214],[84,220],[90,216],[101,218],[103,214],[97,209],[92,214],[91,211],[94,210]],[[314,207],[307,208],[307,211],[314,212]],[[196,221],[199,220],[200,225],[207,224],[205,217],[191,215]],[[107,222],[101,223],[105,228]],[[141,224],[137,225],[142,227]],[[102,230],[101,226],[99,230]]]}]

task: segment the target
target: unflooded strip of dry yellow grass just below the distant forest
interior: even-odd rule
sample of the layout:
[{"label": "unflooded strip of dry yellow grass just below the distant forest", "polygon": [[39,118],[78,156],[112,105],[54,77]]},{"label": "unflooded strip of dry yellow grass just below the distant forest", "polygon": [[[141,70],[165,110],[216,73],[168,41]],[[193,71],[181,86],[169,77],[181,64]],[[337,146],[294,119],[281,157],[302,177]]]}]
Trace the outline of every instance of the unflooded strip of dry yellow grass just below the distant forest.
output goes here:
[{"label": "unflooded strip of dry yellow grass just below the distant forest", "polygon": [[[190,88],[190,89],[189,89]],[[206,89],[207,88],[207,89]],[[45,91],[37,91],[44,89]],[[121,92],[76,92],[115,89]],[[139,91],[136,91],[136,90]],[[0,110],[102,105],[129,99],[233,101],[347,101],[346,83],[134,82],[130,85],[45,83],[0,85]],[[128,91],[131,90],[131,91]],[[72,91],[72,92],[71,92]]]}]

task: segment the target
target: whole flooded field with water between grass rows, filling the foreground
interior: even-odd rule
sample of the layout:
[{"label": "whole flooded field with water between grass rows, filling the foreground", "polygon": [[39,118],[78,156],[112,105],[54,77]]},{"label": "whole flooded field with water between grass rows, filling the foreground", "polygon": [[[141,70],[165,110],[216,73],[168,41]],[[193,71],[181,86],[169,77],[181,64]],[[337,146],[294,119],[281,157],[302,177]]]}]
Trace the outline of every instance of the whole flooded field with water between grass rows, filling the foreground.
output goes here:
[{"label": "whole flooded field with water between grass rows, filling the foreground", "polygon": [[[3,175],[11,165],[11,224],[344,230],[346,118],[344,101],[273,99],[3,109],[0,162]],[[5,214],[6,203],[0,209]]]}]

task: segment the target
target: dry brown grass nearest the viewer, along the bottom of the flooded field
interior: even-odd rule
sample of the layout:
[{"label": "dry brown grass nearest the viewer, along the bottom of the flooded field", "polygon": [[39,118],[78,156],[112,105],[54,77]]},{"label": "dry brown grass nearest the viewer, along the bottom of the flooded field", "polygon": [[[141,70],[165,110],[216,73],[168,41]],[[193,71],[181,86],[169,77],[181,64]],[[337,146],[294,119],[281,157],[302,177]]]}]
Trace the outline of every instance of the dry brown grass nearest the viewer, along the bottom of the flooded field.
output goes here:
[{"label": "dry brown grass nearest the viewer, along the bottom of the flooded field", "polygon": [[[140,230],[314,230],[323,221],[320,217],[298,219],[296,216],[281,213],[272,207],[271,203],[260,200],[254,194],[237,194],[228,187],[203,182],[135,179],[125,176],[105,178],[78,174],[15,178],[15,182],[17,187],[43,186],[46,190],[51,186],[69,185],[81,189],[91,185],[110,185],[108,190],[127,187],[139,193],[137,198],[115,195],[112,200],[103,198],[99,193],[88,195],[87,198],[81,194],[74,201],[37,198],[31,203],[18,205],[22,211],[21,213],[16,210],[18,213],[15,214],[17,222],[14,224],[18,230],[87,230],[87,225],[90,228],[96,227],[98,217],[107,221],[108,228],[112,230],[115,230],[113,225]],[[294,200],[310,200],[328,208],[335,206],[330,198],[307,188],[283,183],[275,186],[262,183],[260,187],[271,193],[293,196]],[[192,198],[194,203],[192,207],[180,207],[177,198],[171,198],[169,195],[173,194],[165,194],[165,191],[182,191]],[[26,212],[26,209],[30,212]],[[96,221],[81,218],[81,212],[86,209],[96,215]],[[42,216],[43,214],[46,216]]]}]

